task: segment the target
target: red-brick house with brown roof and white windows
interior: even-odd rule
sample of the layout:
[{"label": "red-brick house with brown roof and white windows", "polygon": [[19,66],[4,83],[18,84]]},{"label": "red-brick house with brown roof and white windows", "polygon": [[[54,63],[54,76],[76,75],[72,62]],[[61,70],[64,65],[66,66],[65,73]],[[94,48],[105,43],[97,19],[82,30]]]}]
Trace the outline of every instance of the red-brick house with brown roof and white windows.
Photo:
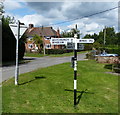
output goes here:
[{"label": "red-brick house with brown roof and white windows", "polygon": [[26,51],[35,51],[38,49],[37,45],[34,43],[32,38],[35,35],[41,36],[43,39],[43,44],[45,45],[45,49],[62,49],[61,45],[51,45],[50,39],[51,37],[60,38],[59,29],[55,31],[52,27],[34,27],[33,24],[29,24],[29,28],[25,32],[27,36],[26,43]]}]

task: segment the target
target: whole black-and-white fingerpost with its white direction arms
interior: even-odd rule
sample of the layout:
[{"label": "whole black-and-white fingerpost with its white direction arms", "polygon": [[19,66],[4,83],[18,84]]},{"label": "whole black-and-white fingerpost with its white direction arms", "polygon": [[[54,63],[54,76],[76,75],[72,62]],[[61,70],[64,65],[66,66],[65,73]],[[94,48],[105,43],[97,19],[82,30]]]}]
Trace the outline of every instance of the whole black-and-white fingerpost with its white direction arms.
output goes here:
[{"label": "whole black-and-white fingerpost with its white direction arms", "polygon": [[74,68],[74,106],[77,105],[77,50],[84,49],[84,43],[94,43],[94,39],[77,39],[77,34],[74,38],[52,38],[52,45],[67,45],[67,49],[74,50],[74,57],[72,57],[72,67]]}]

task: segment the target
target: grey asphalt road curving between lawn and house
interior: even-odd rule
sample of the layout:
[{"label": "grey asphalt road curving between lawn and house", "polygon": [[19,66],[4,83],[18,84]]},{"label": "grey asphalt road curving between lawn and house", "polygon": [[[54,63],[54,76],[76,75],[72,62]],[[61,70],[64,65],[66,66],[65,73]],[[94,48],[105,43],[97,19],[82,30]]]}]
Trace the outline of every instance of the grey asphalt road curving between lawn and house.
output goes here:
[{"label": "grey asphalt road curving between lawn and house", "polygon": [[[20,64],[19,65],[19,74],[27,73],[38,68],[44,68],[52,65],[57,65],[65,62],[71,62],[71,57],[41,57],[41,58],[31,58],[25,57],[25,60],[30,60],[31,62]],[[78,54],[78,60],[84,60],[85,54]],[[0,67],[0,72],[2,72],[2,80],[8,80],[11,77],[14,77],[15,74],[15,65],[14,66],[5,66]]]}]

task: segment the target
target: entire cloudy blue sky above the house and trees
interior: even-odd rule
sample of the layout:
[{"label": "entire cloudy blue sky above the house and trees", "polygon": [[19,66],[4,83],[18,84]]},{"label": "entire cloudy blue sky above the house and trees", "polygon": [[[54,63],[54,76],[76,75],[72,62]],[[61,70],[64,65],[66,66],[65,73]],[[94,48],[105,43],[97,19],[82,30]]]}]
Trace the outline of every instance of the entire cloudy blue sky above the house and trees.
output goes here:
[{"label": "entire cloudy blue sky above the house and trees", "polygon": [[[118,9],[82,18],[117,6],[118,2],[112,0],[110,2],[6,0],[4,2],[5,15],[14,16],[16,20],[20,20],[27,26],[30,23],[34,24],[35,27],[52,26],[55,30],[59,28],[62,32],[70,31],[77,24],[82,34],[81,37],[85,34],[98,33],[105,26],[114,27],[115,31],[118,32]],[[74,20],[76,18],[77,20]],[[67,22],[61,23],[65,21]]]}]

